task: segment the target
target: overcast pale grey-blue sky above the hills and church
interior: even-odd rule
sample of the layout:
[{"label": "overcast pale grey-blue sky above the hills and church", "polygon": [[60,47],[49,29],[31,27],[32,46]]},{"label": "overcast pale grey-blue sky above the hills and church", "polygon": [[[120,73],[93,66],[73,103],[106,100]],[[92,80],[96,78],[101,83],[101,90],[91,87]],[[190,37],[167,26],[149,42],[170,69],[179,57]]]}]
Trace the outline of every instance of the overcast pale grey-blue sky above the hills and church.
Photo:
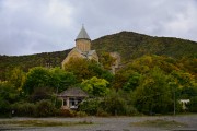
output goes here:
[{"label": "overcast pale grey-blue sky above the hills and church", "polygon": [[197,0],[0,0],[0,55],[74,47],[121,31],[197,41]]}]

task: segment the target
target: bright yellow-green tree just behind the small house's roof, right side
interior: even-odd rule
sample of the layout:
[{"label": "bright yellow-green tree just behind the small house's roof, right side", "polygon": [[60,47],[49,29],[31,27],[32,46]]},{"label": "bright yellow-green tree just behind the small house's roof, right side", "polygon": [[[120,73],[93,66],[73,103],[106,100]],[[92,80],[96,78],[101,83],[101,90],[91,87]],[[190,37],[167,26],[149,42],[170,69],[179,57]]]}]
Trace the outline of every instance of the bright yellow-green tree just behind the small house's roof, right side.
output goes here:
[{"label": "bright yellow-green tree just behind the small house's roof, right side", "polygon": [[82,90],[86,91],[92,96],[104,96],[109,92],[107,87],[108,84],[106,80],[93,76],[90,80],[84,80],[81,86]]}]

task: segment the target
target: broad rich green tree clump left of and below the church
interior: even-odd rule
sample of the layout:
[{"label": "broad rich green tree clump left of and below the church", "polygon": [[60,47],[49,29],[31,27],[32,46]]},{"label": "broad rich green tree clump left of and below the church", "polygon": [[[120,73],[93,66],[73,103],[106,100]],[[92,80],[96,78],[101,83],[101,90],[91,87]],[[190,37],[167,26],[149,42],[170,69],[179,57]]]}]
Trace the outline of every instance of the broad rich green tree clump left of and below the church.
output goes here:
[{"label": "broad rich green tree clump left of and below the church", "polygon": [[59,93],[73,84],[76,84],[76,76],[71,72],[66,72],[60,68],[36,67],[28,71],[23,90],[27,95],[35,93],[35,88],[48,88],[48,91]]}]

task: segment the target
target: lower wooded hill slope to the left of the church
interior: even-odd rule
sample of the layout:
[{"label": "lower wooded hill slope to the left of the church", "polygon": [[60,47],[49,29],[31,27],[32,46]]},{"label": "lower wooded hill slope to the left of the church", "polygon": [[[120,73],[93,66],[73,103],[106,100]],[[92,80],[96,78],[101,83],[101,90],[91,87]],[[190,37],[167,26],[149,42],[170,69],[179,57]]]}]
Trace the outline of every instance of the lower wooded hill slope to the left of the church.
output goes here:
[{"label": "lower wooded hill slope to the left of the church", "polygon": [[0,80],[5,80],[7,70],[21,67],[25,72],[33,67],[60,67],[71,49],[28,56],[0,56]]}]

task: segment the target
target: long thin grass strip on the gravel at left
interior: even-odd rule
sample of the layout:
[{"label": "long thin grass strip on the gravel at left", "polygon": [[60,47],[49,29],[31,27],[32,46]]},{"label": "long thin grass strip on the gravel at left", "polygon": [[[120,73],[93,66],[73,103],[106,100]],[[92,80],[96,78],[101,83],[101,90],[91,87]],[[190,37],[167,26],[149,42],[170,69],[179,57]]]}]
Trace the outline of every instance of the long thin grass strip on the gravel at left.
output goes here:
[{"label": "long thin grass strip on the gravel at left", "polygon": [[80,121],[80,122],[61,122],[61,121],[48,121],[48,120],[9,120],[9,121],[0,121],[1,124],[15,124],[20,127],[70,127],[70,126],[81,126],[81,124],[93,124],[93,122],[89,121]]}]

